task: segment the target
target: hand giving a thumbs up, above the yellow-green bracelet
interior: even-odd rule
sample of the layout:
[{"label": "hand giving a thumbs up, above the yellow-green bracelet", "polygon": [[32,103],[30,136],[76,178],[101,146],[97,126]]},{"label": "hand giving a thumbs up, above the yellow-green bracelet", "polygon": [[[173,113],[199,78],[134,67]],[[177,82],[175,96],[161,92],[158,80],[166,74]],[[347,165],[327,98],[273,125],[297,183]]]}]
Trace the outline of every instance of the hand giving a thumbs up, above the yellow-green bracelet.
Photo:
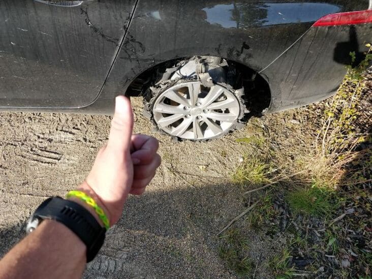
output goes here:
[{"label": "hand giving a thumbs up, above the yellow-green bracelet", "polygon": [[132,132],[130,101],[118,96],[109,140],[99,151],[88,177],[78,187],[104,209],[111,226],[119,220],[128,195],[141,195],[161,164],[158,140],[132,135]]}]

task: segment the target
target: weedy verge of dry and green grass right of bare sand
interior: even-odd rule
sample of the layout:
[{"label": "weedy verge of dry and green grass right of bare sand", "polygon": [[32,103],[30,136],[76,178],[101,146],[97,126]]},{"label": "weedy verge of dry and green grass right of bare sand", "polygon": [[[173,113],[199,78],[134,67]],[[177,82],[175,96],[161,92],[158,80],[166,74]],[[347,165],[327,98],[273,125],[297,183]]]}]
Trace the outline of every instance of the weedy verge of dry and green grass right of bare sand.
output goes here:
[{"label": "weedy verge of dry and green grass right of bare sand", "polygon": [[254,119],[254,136],[237,140],[256,147],[232,176],[243,189],[302,171],[244,197],[259,201],[244,221],[252,229],[292,237],[286,249],[263,263],[276,278],[371,276],[372,91],[362,75],[370,52],[369,46],[361,65],[349,67],[333,98]]}]

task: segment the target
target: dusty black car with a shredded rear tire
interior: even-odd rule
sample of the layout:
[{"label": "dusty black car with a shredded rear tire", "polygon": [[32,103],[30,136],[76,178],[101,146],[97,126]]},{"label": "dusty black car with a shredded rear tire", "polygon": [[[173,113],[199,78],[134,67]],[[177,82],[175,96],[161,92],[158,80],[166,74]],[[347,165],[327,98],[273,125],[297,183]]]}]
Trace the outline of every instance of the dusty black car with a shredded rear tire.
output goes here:
[{"label": "dusty black car with a shredded rear tire", "polygon": [[111,114],[175,138],[332,95],[371,41],[368,0],[0,0],[0,110]]}]

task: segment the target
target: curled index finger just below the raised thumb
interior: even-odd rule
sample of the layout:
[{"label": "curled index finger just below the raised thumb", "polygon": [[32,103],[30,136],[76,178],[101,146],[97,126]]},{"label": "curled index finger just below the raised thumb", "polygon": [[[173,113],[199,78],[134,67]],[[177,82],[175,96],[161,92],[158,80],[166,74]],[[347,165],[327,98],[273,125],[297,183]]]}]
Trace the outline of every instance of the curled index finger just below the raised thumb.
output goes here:
[{"label": "curled index finger just below the raised thumb", "polygon": [[[137,136],[137,135],[136,135]],[[138,135],[140,136],[140,135]],[[142,136],[142,135],[141,135]],[[135,137],[135,140],[133,141],[132,137],[132,143],[135,145],[136,150],[132,153],[132,159],[136,159],[136,165],[146,165],[151,163],[152,158],[156,154],[156,152],[159,149],[159,142],[156,138],[148,137],[145,141],[143,141],[142,145],[139,145],[138,143],[140,140],[143,140],[143,137]],[[139,147],[139,148],[137,148]],[[139,160],[139,161],[138,161]],[[139,163],[138,163],[139,162]]]}]

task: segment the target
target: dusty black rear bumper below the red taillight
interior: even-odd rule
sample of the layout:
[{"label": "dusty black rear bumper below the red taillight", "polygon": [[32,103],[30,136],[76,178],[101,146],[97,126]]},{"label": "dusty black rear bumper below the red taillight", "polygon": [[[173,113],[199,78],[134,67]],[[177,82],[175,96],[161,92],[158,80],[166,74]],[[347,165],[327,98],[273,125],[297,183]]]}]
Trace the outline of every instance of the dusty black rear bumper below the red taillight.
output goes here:
[{"label": "dusty black rear bumper below the red taillight", "polygon": [[372,39],[372,24],[312,27],[288,51],[261,72],[269,80],[267,113],[311,104],[333,95],[351,65]]}]

